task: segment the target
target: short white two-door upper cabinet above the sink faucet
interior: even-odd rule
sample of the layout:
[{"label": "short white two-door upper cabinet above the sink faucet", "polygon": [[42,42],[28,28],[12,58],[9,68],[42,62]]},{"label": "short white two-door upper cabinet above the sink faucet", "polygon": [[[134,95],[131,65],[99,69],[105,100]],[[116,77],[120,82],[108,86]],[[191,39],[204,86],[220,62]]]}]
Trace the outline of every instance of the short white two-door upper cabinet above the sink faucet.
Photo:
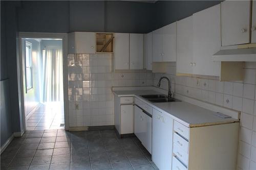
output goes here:
[{"label": "short white two-door upper cabinet above the sink faucet", "polygon": [[176,61],[176,22],[153,31],[153,62]]}]

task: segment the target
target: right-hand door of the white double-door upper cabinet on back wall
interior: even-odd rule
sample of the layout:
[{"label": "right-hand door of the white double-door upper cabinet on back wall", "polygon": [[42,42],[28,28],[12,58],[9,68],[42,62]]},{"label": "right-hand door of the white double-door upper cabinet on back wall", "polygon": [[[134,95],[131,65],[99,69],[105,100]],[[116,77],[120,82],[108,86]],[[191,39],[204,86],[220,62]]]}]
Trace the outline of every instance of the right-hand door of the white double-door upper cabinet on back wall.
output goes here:
[{"label": "right-hand door of the white double-door upper cabinet on back wall", "polygon": [[130,69],[143,69],[143,34],[130,34]]}]

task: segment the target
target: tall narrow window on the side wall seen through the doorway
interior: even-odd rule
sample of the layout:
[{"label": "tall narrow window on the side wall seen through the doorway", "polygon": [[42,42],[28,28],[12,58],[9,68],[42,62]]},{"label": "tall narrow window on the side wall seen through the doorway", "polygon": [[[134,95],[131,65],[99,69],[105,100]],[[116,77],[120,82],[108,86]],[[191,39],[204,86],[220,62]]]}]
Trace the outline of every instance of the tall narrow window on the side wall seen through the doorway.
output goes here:
[{"label": "tall narrow window on the side wall seen through the doorway", "polygon": [[25,51],[25,60],[26,60],[26,90],[33,88],[33,75],[32,75],[32,44],[26,41],[26,51]]}]

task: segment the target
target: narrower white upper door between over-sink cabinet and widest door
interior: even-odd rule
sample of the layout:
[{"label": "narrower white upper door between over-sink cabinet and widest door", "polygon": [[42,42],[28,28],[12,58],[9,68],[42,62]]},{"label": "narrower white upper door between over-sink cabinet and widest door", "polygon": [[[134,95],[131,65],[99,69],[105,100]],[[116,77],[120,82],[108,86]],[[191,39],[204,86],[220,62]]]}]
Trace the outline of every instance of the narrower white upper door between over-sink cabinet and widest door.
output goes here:
[{"label": "narrower white upper door between over-sink cabinet and widest door", "polygon": [[176,72],[193,72],[193,16],[177,21]]}]

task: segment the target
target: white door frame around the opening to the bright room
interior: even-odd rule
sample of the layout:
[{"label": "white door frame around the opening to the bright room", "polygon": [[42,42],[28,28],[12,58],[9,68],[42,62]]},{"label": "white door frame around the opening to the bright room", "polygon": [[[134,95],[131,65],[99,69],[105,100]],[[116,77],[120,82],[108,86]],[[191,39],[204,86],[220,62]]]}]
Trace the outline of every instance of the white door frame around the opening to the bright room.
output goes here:
[{"label": "white door frame around the opening to the bright room", "polygon": [[17,55],[17,75],[18,91],[20,93],[20,106],[23,117],[23,129],[26,131],[25,101],[24,101],[24,74],[22,57],[22,38],[56,38],[62,39],[62,71],[63,71],[63,107],[65,130],[69,130],[69,108],[68,108],[68,33],[39,33],[39,32],[19,32],[18,33],[18,53]]}]

